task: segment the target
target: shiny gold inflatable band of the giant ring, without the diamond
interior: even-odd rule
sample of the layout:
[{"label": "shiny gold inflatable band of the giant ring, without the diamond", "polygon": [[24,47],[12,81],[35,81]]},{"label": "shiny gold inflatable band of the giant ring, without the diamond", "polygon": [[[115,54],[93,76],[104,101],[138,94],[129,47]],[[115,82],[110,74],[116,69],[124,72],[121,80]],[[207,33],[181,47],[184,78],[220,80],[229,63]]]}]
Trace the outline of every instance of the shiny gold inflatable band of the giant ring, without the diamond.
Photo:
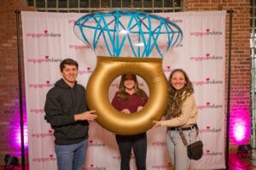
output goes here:
[{"label": "shiny gold inflatable band of the giant ring, without the diamond", "polygon": [[[149,98],[142,111],[124,114],[109,102],[108,89],[116,77],[125,73],[143,77],[148,84]],[[96,69],[86,89],[90,110],[96,110],[96,122],[113,133],[137,134],[153,127],[166,111],[168,83],[160,58],[97,57]]]}]

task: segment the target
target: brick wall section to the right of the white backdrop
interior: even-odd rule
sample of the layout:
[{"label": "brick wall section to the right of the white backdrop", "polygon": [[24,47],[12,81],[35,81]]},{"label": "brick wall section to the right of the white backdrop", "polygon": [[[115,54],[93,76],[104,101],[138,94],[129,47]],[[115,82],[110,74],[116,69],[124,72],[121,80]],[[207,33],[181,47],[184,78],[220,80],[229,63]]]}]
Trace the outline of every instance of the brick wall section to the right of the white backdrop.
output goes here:
[{"label": "brick wall section to the right of the white backdrop", "polygon": [[[236,123],[236,114],[250,115],[250,1],[241,0],[187,0],[186,10],[233,10],[230,67],[230,125]],[[230,14],[226,15],[226,89],[228,84]],[[225,101],[227,101],[227,92]],[[226,102],[227,103],[227,102]],[[225,106],[227,108],[227,106]],[[230,133],[232,132],[230,128]],[[236,144],[230,139],[230,150]],[[250,141],[248,140],[249,144]]]}]

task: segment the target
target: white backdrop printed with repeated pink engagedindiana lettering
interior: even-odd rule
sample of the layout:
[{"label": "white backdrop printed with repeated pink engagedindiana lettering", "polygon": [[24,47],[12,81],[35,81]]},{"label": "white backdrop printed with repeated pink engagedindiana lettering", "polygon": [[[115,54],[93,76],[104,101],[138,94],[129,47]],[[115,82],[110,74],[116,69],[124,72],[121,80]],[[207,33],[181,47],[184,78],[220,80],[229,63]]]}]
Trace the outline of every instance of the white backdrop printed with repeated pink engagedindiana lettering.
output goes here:
[{"label": "white backdrop printed with repeated pink engagedindiana lettering", "polygon": [[[61,59],[79,62],[79,83],[86,83],[96,67],[96,54],[73,32],[84,14],[21,12],[26,85],[27,137],[31,170],[56,169],[53,129],[44,120],[44,101],[49,88],[61,78]],[[200,161],[192,169],[224,168],[224,72],[226,11],[158,14],[183,31],[183,42],[163,58],[169,77],[175,68],[187,71],[195,87],[198,124],[204,143]],[[108,54],[106,54],[108,55]],[[118,80],[109,88],[110,99]],[[140,84],[147,91],[147,84]],[[96,94],[99,95],[99,94]],[[165,127],[148,130],[148,169],[172,169],[166,152]],[[89,147],[84,169],[119,169],[119,150],[114,134],[97,122],[90,123]],[[131,169],[136,169],[131,156]]]}]

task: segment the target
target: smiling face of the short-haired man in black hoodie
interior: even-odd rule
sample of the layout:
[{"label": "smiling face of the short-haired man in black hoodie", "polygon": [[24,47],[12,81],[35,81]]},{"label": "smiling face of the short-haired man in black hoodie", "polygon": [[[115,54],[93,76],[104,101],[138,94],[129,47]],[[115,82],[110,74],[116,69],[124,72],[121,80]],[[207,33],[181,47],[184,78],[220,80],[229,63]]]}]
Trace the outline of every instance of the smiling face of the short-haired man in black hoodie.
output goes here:
[{"label": "smiling face of the short-haired man in black hoodie", "polygon": [[78,77],[78,68],[76,65],[65,65],[61,71],[62,77],[65,82],[71,87],[73,87],[76,78]]}]

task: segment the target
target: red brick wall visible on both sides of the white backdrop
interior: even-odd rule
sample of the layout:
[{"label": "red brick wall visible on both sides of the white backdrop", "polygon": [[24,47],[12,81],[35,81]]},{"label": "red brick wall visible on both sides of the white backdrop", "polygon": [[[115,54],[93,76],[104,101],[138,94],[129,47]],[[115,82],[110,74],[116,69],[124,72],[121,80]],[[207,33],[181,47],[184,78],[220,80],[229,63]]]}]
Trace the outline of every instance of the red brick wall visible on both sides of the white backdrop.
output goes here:
[{"label": "red brick wall visible on both sides of the white backdrop", "polygon": [[[250,2],[249,0],[187,0],[186,11],[230,10],[233,12],[230,110],[250,111]],[[0,165],[5,154],[20,157],[15,132],[20,129],[19,77],[15,10],[34,10],[21,6],[21,0],[3,0],[0,6]],[[21,28],[21,27],[20,27]],[[20,30],[21,31],[21,30]],[[229,14],[226,24],[226,75],[228,72]],[[21,35],[20,35],[21,38]],[[20,40],[20,43],[22,41]],[[20,48],[22,50],[22,48]],[[20,53],[22,55],[22,52]],[[22,57],[22,56],[21,56]],[[22,58],[21,58],[22,61]],[[227,81],[226,81],[227,84]],[[227,86],[227,85],[226,85]],[[226,91],[227,92],[227,91]],[[24,94],[24,89],[23,89]],[[227,94],[227,93],[226,93]],[[227,97],[226,97],[227,98]],[[25,101],[25,99],[23,99]],[[25,105],[25,104],[24,104]],[[232,112],[230,112],[232,116]],[[26,121],[26,114],[24,115]],[[233,122],[230,122],[232,124]],[[249,141],[248,141],[249,142]],[[230,143],[230,150],[236,145]],[[27,149],[26,149],[27,161]]]}]

